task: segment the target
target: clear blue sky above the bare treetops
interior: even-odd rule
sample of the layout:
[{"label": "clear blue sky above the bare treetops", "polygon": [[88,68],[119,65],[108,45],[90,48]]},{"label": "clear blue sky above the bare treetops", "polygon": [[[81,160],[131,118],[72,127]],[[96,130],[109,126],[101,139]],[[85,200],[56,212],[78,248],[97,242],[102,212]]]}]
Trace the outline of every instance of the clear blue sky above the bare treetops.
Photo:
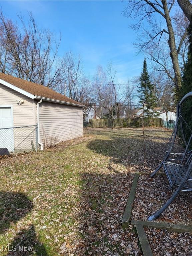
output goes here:
[{"label": "clear blue sky above the bare treetops", "polygon": [[62,36],[59,55],[80,54],[85,73],[94,75],[100,64],[112,61],[117,80],[127,81],[142,70],[144,55],[136,55],[131,20],[122,15],[125,1],[0,1],[6,16],[17,20],[32,11],[39,25]]}]

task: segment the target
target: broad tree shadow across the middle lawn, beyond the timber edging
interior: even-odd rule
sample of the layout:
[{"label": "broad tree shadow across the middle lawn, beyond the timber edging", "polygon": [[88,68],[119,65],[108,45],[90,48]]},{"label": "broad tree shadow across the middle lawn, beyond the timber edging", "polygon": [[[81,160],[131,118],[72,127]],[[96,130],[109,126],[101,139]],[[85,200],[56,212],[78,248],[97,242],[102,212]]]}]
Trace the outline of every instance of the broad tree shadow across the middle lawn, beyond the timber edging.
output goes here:
[{"label": "broad tree shadow across the middle lawn, beyond the timber edging", "polygon": [[[87,143],[87,147],[97,154],[110,157],[109,168],[112,164],[119,164],[124,167],[136,167],[138,172],[144,167],[143,137],[128,138],[109,136],[108,140],[96,139]],[[162,161],[167,143],[145,138],[145,167],[149,171],[155,170]]]}]

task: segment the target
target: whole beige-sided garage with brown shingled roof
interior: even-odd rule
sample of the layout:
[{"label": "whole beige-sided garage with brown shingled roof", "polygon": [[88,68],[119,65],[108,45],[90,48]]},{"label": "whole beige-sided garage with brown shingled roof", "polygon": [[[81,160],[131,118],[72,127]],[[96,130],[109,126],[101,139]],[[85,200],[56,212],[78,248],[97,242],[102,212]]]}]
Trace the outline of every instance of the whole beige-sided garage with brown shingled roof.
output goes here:
[{"label": "whole beige-sided garage with brown shingled roof", "polygon": [[[83,106],[43,85],[0,73],[0,148],[29,150],[24,148],[26,140],[31,143],[27,127],[37,123],[41,149],[53,140],[83,136]],[[26,128],[7,129],[18,126]]]}]

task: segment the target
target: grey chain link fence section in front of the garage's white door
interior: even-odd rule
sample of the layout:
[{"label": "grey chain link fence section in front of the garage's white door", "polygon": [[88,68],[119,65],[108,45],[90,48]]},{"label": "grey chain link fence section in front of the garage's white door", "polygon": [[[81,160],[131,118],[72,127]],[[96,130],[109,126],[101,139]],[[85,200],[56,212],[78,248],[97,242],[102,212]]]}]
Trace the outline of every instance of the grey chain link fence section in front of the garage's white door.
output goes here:
[{"label": "grey chain link fence section in front of the garage's white door", "polygon": [[38,125],[0,129],[0,148],[10,153],[37,152]]}]

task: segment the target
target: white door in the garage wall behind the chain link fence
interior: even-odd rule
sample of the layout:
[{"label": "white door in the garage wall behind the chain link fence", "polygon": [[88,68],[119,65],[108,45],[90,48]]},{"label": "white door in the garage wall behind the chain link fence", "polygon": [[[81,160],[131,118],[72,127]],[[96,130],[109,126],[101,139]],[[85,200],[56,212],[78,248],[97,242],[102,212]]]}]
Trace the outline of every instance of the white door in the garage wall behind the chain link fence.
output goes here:
[{"label": "white door in the garage wall behind the chain link fence", "polygon": [[[13,113],[11,107],[0,107],[0,128],[13,127]],[[0,148],[14,151],[13,129],[0,129]]]}]

